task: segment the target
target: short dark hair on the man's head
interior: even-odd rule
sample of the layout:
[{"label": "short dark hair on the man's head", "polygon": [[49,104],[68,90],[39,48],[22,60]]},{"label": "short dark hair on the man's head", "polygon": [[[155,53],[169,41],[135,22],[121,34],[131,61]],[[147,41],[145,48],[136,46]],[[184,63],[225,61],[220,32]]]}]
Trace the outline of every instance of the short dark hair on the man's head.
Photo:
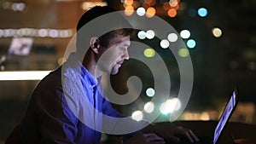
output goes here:
[{"label": "short dark hair on the man's head", "polygon": [[[82,30],[82,27],[89,23],[91,20],[95,20],[97,17],[100,17],[104,14],[109,14],[112,12],[117,12],[116,9],[113,9],[109,6],[95,6],[89,10],[87,10],[80,18],[78,25],[77,25],[77,52],[82,53],[84,49],[84,32],[79,32]],[[116,20],[116,21],[115,21]],[[108,40],[113,38],[116,34],[123,35],[123,36],[131,36],[133,34],[132,28],[118,28],[119,26],[125,25],[131,27],[129,22],[125,20],[125,18],[118,14],[118,17],[115,20],[105,20],[106,23],[111,23],[111,25],[117,26],[116,30],[104,33],[102,36],[99,37],[100,44],[102,46],[108,46]],[[104,23],[100,23],[99,25],[105,26]],[[105,27],[108,29],[108,27]],[[85,33],[86,34],[86,33]]]}]

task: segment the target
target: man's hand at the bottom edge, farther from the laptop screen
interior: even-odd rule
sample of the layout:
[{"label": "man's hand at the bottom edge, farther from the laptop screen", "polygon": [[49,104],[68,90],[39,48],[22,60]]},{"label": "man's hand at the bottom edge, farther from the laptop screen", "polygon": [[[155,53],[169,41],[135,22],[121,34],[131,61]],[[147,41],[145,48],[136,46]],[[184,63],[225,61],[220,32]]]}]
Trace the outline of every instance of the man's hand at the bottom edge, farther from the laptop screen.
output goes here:
[{"label": "man's hand at the bottom edge, farther from the laptop screen", "polygon": [[137,133],[124,144],[164,144],[164,139],[154,133]]}]

